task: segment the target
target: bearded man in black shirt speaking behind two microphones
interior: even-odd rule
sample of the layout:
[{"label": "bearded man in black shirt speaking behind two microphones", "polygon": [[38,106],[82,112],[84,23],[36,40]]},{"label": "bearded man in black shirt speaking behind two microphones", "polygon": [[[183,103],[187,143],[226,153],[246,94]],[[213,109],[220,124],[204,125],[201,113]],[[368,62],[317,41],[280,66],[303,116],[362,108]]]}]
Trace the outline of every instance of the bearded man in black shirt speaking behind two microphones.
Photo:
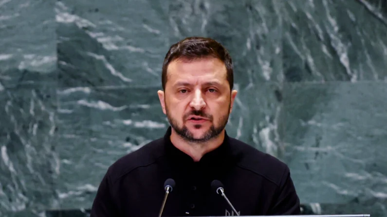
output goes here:
[{"label": "bearded man in black shirt speaking behind two microphones", "polygon": [[[168,178],[176,185],[163,216],[298,215],[289,168],[225,132],[233,82],[230,54],[217,41],[190,37],[172,45],[158,91],[171,126],[109,167],[91,216],[158,216]],[[213,180],[237,213],[211,188]]]}]

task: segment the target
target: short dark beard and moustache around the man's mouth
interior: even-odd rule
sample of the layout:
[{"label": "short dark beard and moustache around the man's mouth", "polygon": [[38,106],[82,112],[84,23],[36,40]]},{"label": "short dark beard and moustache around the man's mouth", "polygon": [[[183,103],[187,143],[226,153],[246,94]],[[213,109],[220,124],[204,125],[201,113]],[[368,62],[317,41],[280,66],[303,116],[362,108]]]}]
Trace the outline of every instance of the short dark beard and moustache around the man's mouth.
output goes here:
[{"label": "short dark beard and moustache around the man's mouth", "polygon": [[[229,108],[230,108],[231,104],[229,104]],[[230,110],[229,110],[230,111]],[[196,115],[196,116],[201,116],[201,117],[206,117],[208,118],[210,121],[213,121],[213,118],[212,116],[208,116],[208,115],[205,115],[203,114],[203,111],[192,111],[190,112],[189,114],[186,114],[183,119],[185,120],[188,116],[190,115]],[[172,117],[169,116],[169,113],[168,113],[168,108],[166,106],[166,117],[168,119],[168,122],[169,124],[171,125],[171,127],[175,130],[175,132],[180,135],[185,141],[187,142],[191,142],[191,143],[204,143],[206,141],[209,141],[213,138],[216,138],[219,136],[219,134],[221,134],[221,132],[223,131],[223,129],[226,127],[227,125],[227,122],[228,122],[228,117],[229,117],[230,113],[228,113],[227,115],[224,115],[220,118],[220,121],[219,121],[219,126],[218,127],[215,127],[214,125],[212,125],[210,127],[210,129],[208,129],[207,132],[205,132],[203,134],[203,136],[201,138],[194,138],[193,134],[188,130],[188,128],[184,125],[183,127],[179,127],[178,123],[176,120],[174,120]],[[194,127],[196,129],[199,129],[202,127],[201,124],[197,124],[197,125],[194,125]]]}]

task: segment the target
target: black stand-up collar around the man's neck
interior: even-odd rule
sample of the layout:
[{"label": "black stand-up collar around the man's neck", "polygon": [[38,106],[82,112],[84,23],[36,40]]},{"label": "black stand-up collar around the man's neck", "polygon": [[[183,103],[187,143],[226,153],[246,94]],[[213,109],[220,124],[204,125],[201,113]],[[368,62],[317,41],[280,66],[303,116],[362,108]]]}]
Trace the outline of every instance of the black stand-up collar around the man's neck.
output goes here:
[{"label": "black stand-up collar around the man's neck", "polygon": [[165,141],[167,158],[172,160],[174,163],[178,163],[182,165],[200,164],[203,166],[215,166],[215,165],[222,165],[231,160],[229,136],[227,135],[226,132],[224,133],[224,140],[221,146],[219,146],[215,150],[212,150],[204,154],[199,162],[194,162],[193,159],[188,154],[179,150],[172,144],[170,140],[171,132],[172,132],[172,127],[169,126],[168,129],[166,130],[166,134],[164,135],[164,141]]}]

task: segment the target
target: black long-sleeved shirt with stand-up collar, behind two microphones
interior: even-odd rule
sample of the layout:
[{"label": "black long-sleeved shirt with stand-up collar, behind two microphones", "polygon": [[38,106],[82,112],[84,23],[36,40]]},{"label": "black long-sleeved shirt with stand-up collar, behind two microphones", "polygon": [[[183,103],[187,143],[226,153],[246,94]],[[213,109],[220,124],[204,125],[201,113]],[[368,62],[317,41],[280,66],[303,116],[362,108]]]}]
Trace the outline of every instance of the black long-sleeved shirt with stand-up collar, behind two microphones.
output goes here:
[{"label": "black long-sleeved shirt with stand-up collar, behind two microphones", "polygon": [[226,200],[211,189],[220,180],[240,216],[299,215],[289,168],[275,157],[225,134],[221,146],[199,162],[163,138],[117,160],[105,174],[91,217],[157,217],[166,179],[175,180],[163,216],[230,216]]}]

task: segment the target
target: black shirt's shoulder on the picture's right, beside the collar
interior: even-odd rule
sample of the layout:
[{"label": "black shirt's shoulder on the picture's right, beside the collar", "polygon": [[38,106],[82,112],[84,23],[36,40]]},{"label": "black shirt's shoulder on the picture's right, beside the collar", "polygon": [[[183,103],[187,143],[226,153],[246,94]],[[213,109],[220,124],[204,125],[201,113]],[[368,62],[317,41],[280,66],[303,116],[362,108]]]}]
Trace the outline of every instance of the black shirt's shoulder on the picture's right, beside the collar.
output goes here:
[{"label": "black shirt's shoulder on the picture's right, beside the collar", "polygon": [[238,167],[262,176],[264,179],[280,185],[289,167],[271,154],[265,153],[238,139],[230,138]]}]

